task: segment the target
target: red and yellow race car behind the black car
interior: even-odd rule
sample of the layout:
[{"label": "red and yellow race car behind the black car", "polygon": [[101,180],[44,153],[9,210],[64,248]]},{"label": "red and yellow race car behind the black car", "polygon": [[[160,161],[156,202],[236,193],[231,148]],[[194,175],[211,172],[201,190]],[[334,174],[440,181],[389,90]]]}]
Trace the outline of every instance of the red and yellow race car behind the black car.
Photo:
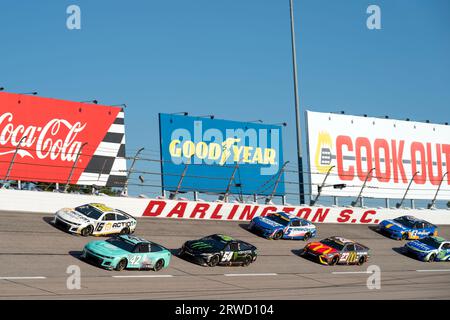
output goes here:
[{"label": "red and yellow race car behind the black car", "polygon": [[330,237],[320,242],[308,243],[301,254],[316,258],[320,263],[330,266],[336,264],[362,265],[369,259],[369,248],[342,237]]}]

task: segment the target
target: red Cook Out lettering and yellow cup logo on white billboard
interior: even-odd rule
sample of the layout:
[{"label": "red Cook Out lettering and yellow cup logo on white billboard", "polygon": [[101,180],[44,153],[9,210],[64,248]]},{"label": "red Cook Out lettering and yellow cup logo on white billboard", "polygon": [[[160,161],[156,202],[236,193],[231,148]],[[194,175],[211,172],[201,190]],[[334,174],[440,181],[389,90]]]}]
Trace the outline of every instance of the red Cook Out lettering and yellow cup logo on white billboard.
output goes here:
[{"label": "red Cook Out lettering and yellow cup logo on white billboard", "polygon": [[[417,185],[439,185],[450,170],[450,144],[396,139],[369,139],[339,135],[332,151],[330,139],[322,136],[316,149],[316,166],[327,167],[335,161],[337,175],[343,181],[377,180],[381,183],[407,184],[414,175]],[[373,170],[371,175],[369,172]],[[446,177],[450,185],[450,176]]]}]

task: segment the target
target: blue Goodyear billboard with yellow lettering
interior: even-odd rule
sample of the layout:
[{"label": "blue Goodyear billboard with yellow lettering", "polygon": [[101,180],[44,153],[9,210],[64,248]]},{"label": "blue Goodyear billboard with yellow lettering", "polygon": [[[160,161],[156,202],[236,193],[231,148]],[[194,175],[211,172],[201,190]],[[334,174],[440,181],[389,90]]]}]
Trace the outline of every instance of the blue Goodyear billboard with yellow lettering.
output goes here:
[{"label": "blue Goodyear billboard with yellow lettering", "polygon": [[284,195],[281,126],[159,114],[164,190]]}]

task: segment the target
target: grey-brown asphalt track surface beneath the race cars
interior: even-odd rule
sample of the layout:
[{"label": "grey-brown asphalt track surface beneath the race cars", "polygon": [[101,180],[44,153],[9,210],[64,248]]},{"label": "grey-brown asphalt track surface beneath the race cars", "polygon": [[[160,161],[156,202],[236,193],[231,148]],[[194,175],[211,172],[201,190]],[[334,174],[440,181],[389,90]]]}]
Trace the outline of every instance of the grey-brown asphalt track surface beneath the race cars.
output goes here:
[{"label": "grey-brown asphalt track surface beneath the race cars", "polygon": [[[136,235],[178,249],[190,239],[222,233],[258,247],[249,267],[202,267],[172,258],[154,271],[107,271],[79,260],[84,238],[56,229],[51,215],[0,212],[0,299],[449,299],[450,264],[404,256],[373,226],[319,224],[319,237],[340,235],[371,249],[363,266],[323,266],[298,255],[305,242],[266,240],[247,223],[140,218]],[[450,238],[450,227],[439,234]],[[310,240],[311,241],[311,240]],[[81,289],[67,289],[68,266],[81,269]],[[369,265],[381,288],[368,289]],[[119,277],[117,277],[119,276]]]}]

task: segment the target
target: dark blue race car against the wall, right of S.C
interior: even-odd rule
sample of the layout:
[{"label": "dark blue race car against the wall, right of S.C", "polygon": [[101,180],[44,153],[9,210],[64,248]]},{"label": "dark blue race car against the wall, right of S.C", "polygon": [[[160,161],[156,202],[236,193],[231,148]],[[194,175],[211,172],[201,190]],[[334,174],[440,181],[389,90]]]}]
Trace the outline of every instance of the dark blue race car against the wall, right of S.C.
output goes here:
[{"label": "dark blue race car against the wall, right of S.C", "polygon": [[378,225],[378,231],[396,240],[415,240],[437,236],[437,227],[434,224],[413,216],[383,220]]}]

